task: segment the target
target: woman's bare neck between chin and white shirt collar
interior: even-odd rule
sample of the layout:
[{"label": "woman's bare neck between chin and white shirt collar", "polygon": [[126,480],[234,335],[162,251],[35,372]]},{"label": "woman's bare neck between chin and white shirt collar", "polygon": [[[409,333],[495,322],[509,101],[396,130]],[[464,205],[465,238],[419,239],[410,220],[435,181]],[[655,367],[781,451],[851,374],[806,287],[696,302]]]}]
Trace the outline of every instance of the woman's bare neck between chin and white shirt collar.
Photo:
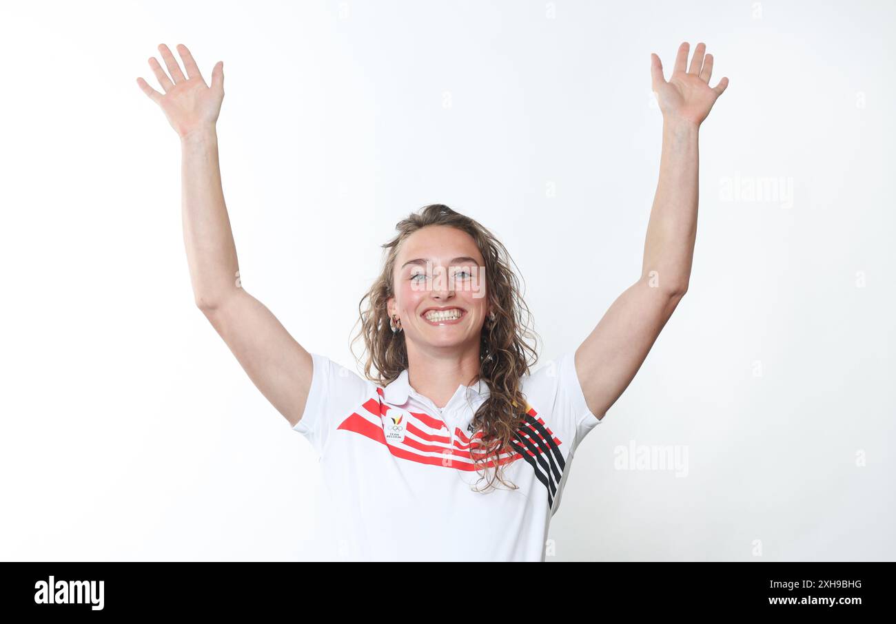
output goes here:
[{"label": "woman's bare neck between chin and white shirt collar", "polygon": [[435,406],[447,405],[459,386],[472,386],[479,377],[478,345],[439,349],[408,343],[408,382]]}]

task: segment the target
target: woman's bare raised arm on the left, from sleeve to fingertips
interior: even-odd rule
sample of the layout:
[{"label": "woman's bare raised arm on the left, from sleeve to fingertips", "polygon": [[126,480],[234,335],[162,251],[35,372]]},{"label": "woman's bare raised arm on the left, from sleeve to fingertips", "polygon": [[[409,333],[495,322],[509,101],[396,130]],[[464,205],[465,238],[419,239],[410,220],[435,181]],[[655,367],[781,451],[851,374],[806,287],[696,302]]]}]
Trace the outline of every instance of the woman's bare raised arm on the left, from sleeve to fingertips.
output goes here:
[{"label": "woman's bare raised arm on the left, from sleeve to fingertips", "polygon": [[271,404],[295,426],[311,385],[311,355],[239,280],[237,249],[221,188],[216,124],[224,98],[224,64],[211,71],[211,87],[190,51],[177,46],[186,77],[171,51],[159,45],[168,73],[150,67],[164,95],[137,79],[177,132],[181,145],[181,201],[186,259],[195,303]]}]

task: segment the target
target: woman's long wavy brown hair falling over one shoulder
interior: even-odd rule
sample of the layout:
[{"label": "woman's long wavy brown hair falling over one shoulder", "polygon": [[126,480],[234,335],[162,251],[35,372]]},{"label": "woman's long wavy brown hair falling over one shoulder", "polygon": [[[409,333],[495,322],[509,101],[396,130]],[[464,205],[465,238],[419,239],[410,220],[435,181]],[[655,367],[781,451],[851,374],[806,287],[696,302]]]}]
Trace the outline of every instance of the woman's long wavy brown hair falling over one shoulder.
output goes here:
[{"label": "woman's long wavy brown hair falling over one shoulder", "polygon": [[[473,416],[473,430],[481,429],[482,436],[480,440],[474,440],[475,443],[471,442],[470,455],[477,470],[487,471],[495,467],[487,489],[494,487],[495,479],[507,485],[502,465],[502,462],[507,463],[507,458],[502,462],[498,459],[502,453],[516,450],[512,440],[519,439],[518,430],[528,409],[520,389],[521,377],[538,361],[538,351],[528,341],[531,339],[537,345],[539,338],[531,327],[531,312],[522,299],[520,283],[510,267],[513,260],[495,235],[476,220],[443,204],[425,206],[399,221],[395,226],[398,234],[381,245],[383,271],[358,303],[361,329],[351,341],[352,352],[355,342],[363,337],[366,378],[380,386],[391,383],[408,367],[405,334],[403,331],[392,332],[386,302],[394,295],[392,273],[399,246],[409,235],[427,226],[449,226],[466,232],[472,236],[485,260],[486,290],[495,321],[484,324],[479,343],[478,378],[487,383],[489,395]],[[515,266],[515,262],[513,264]],[[371,368],[375,369],[376,375],[371,374]],[[524,446],[517,448],[526,452]],[[513,483],[510,485],[517,489]]]}]

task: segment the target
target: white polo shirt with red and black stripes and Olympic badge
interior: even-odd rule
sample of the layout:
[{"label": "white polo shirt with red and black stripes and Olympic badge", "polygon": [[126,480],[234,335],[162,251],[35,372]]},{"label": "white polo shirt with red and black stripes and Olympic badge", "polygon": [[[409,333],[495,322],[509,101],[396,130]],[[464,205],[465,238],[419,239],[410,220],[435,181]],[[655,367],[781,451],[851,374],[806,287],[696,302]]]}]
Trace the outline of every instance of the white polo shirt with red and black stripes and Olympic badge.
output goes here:
[{"label": "white polo shirt with red and black stripes and Olympic badge", "polygon": [[459,386],[440,410],[410,387],[407,370],[382,388],[312,354],[305,413],[294,427],[320,463],[307,558],[545,560],[573,453],[601,422],[585,402],[573,354],[521,380],[526,423],[513,453],[501,455],[504,481],[516,490],[497,480],[497,489],[487,488],[470,458],[470,423],[488,397],[485,381]]}]

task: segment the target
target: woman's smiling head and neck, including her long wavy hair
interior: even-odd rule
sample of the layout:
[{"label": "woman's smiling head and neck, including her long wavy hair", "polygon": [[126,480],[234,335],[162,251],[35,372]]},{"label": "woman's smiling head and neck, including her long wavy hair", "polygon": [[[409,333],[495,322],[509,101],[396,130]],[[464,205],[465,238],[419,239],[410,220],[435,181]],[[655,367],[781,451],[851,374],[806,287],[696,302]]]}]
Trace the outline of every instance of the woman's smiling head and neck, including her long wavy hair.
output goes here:
[{"label": "woman's smiling head and neck, including her long wavy hair", "polygon": [[[436,407],[459,385],[485,380],[491,393],[472,418],[481,435],[470,452],[486,464],[516,438],[525,417],[521,378],[538,359],[513,261],[485,227],[443,204],[396,229],[383,244],[380,277],[361,299],[367,307],[355,340],[364,338],[365,374],[386,386],[407,370],[410,385]],[[440,277],[432,278],[433,265]],[[467,281],[474,274],[478,279]],[[500,469],[490,479],[502,481]]]}]

